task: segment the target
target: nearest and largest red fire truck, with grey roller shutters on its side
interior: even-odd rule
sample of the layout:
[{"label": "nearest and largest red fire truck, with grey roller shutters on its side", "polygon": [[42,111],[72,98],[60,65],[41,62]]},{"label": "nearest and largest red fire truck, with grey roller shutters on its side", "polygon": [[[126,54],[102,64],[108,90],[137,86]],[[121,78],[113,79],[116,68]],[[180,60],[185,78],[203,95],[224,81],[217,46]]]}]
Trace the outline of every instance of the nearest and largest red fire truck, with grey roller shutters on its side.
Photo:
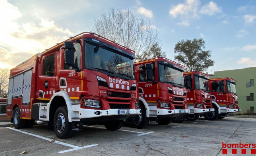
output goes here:
[{"label": "nearest and largest red fire truck, with grey roller shutters on its side", "polygon": [[46,122],[59,138],[83,125],[118,130],[141,114],[134,60],[134,51],[80,33],[10,70],[7,115],[15,128]]}]

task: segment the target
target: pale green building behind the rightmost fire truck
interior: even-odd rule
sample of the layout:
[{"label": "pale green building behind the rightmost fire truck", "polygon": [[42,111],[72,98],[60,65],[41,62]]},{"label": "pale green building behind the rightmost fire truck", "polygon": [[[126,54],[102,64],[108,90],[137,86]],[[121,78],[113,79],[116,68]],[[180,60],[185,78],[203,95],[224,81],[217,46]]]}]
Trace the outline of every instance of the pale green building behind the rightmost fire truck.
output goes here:
[{"label": "pale green building behind the rightmost fire truck", "polygon": [[[254,80],[256,81],[256,67],[215,71],[214,74],[209,74],[210,79],[231,77],[236,82],[236,93],[238,94],[238,104],[241,108],[240,113],[253,114],[256,109],[256,85],[254,87]],[[254,100],[255,99],[255,100]]]}]

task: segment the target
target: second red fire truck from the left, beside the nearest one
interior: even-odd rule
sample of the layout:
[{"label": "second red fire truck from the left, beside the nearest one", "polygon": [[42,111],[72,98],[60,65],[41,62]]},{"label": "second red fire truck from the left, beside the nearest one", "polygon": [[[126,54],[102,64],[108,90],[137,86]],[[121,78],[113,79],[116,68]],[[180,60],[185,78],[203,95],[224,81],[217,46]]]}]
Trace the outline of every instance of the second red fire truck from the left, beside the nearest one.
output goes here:
[{"label": "second red fire truck from the left, beside the nearest one", "polygon": [[134,119],[134,127],[143,128],[149,120],[167,125],[189,113],[183,71],[182,65],[163,57],[135,63],[141,115]]}]

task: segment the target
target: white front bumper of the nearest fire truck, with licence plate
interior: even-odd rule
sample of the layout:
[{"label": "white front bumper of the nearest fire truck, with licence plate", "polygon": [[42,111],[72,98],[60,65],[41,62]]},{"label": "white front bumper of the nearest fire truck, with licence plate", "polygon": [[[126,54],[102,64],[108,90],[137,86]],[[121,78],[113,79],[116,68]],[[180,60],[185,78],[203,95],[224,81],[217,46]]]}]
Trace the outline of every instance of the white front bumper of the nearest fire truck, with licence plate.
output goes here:
[{"label": "white front bumper of the nearest fire truck, with licence plate", "polygon": [[[123,109],[120,109],[123,110]],[[110,109],[110,110],[94,110],[94,109],[79,109],[79,119],[89,119],[89,118],[97,118],[97,117],[108,117],[108,116],[128,116],[140,115],[141,109],[125,109],[130,110],[129,114],[118,114],[118,109]],[[97,114],[97,115],[96,115]],[[121,120],[121,119],[119,119]]]}]

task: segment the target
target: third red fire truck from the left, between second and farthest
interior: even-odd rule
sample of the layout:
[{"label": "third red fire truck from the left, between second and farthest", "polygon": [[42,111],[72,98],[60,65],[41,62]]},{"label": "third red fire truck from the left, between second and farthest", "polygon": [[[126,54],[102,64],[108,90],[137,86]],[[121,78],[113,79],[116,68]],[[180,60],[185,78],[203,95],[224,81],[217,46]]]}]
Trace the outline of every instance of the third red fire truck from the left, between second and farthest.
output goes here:
[{"label": "third red fire truck from the left, between second and farthest", "polygon": [[209,76],[199,71],[184,72],[184,81],[187,88],[187,107],[190,113],[187,120],[194,121],[199,116],[214,112],[209,90]]}]

